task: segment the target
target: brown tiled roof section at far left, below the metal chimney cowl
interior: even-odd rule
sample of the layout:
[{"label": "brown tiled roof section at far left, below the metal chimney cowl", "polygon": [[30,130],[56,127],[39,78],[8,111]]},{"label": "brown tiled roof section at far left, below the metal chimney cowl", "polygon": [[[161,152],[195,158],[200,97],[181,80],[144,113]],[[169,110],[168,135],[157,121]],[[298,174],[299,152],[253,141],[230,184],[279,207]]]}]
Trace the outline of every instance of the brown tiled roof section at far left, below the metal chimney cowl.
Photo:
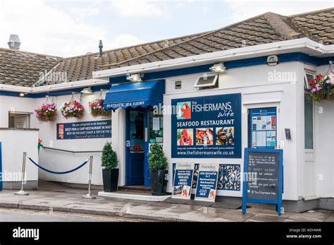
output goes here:
[{"label": "brown tiled roof section at far left, below the metal chimney cowl", "polygon": [[32,86],[62,58],[0,48],[0,84]]}]

